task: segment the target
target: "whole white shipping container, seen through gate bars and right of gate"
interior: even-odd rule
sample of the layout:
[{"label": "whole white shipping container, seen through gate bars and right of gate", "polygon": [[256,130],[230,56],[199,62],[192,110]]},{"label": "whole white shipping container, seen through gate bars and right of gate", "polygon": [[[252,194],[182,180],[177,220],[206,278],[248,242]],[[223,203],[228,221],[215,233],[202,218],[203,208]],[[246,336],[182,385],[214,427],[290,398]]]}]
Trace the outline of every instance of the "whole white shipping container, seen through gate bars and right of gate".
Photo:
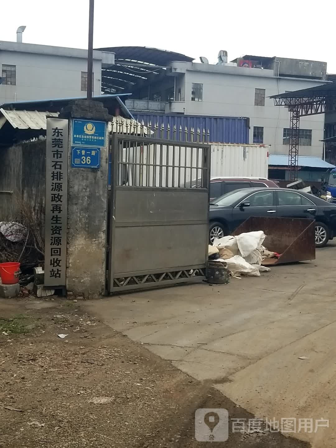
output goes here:
[{"label": "whole white shipping container, seen through gate bars and right of gate", "polygon": [[[267,145],[211,144],[211,177],[266,177]],[[119,148],[118,184],[127,171],[128,185],[190,187],[202,177],[202,150],[197,147],[153,145]],[[168,168],[166,168],[168,166]]]}]

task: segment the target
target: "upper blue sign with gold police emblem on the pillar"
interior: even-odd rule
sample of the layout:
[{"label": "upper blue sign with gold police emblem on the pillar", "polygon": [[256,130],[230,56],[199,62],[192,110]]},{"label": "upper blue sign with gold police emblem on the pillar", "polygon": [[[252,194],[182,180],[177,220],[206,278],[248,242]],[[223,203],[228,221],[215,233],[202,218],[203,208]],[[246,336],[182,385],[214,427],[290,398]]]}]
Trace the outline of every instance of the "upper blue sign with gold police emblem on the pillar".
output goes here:
[{"label": "upper blue sign with gold police emblem on the pillar", "polygon": [[73,120],[73,146],[105,146],[105,121]]}]

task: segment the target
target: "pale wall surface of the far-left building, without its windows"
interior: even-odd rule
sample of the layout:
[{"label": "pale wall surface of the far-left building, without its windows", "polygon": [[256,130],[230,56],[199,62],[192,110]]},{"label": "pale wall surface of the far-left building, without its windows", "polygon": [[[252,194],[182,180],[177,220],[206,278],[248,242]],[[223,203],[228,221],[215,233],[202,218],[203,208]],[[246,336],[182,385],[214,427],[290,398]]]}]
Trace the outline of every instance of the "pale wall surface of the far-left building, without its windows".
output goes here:
[{"label": "pale wall surface of the far-left building, without its windows", "polygon": [[[86,92],[81,90],[81,72],[87,71],[84,50],[80,50],[78,56],[81,57],[78,57],[70,56],[71,52],[65,56],[60,52],[59,55],[52,55],[10,51],[3,49],[2,45],[0,49],[0,68],[2,64],[16,65],[16,86],[0,84],[0,104],[86,96]],[[101,93],[101,65],[101,60],[94,60],[94,95]]]}]

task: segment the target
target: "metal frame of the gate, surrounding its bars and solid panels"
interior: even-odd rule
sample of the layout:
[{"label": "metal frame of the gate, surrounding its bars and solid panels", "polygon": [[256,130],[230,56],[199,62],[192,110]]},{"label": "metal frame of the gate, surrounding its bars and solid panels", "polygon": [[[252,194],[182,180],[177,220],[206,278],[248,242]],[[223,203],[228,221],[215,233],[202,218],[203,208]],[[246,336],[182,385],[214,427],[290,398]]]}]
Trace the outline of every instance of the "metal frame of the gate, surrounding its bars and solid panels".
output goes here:
[{"label": "metal frame of the gate, surrounding its bars and solid panels", "polygon": [[[208,193],[208,204],[210,202],[210,178],[211,178],[211,145],[209,143],[201,143],[201,142],[185,142],[185,141],[178,141],[178,140],[166,140],[166,139],[160,139],[160,138],[153,138],[153,137],[146,137],[144,135],[132,135],[132,134],[110,134],[109,136],[109,145],[108,145],[108,154],[112,154],[111,157],[111,194],[108,201],[109,210],[108,210],[108,223],[109,223],[109,232],[108,232],[108,244],[107,244],[107,256],[108,256],[108,275],[107,275],[107,291],[109,294],[113,293],[122,293],[126,290],[136,290],[136,289],[151,289],[151,288],[157,288],[157,287],[164,287],[168,285],[174,285],[179,283],[199,283],[202,282],[205,277],[205,270],[207,267],[207,256],[208,256],[208,244],[205,245],[205,263],[204,264],[198,264],[198,265],[190,265],[190,266],[184,266],[184,267],[178,267],[178,269],[170,270],[167,269],[152,269],[147,271],[138,271],[138,272],[132,272],[132,275],[128,273],[121,273],[120,276],[128,276],[129,278],[134,278],[135,276],[152,276],[153,282],[151,283],[145,283],[146,279],[143,281],[138,282],[138,280],[134,279],[138,284],[131,284],[128,285],[127,282],[125,285],[122,285],[120,287],[114,286],[114,269],[113,268],[113,259],[112,256],[114,254],[115,249],[115,228],[116,228],[116,192],[118,189],[125,189],[127,188],[129,191],[131,190],[139,190],[142,191],[145,190],[151,190],[158,189],[159,191],[181,191],[181,188],[179,187],[143,187],[143,186],[122,186],[122,185],[116,185],[117,179],[118,179],[118,161],[117,161],[117,153],[113,154],[113,151],[117,151],[118,148],[118,140],[129,140],[133,142],[142,142],[146,141],[148,138],[148,144],[160,144],[160,145],[167,145],[167,146],[187,146],[187,147],[198,147],[202,149],[207,149],[207,159],[205,160],[204,153],[202,153],[202,166],[203,164],[206,164],[206,175],[202,173],[202,189],[207,189]],[[202,166],[198,169],[202,171]],[[190,194],[196,194],[199,191],[199,188],[188,188],[185,189],[190,191]],[[188,221],[185,221],[184,224],[187,224]],[[169,221],[168,221],[169,224]],[[182,224],[182,223],[181,223]],[[209,207],[207,207],[207,235],[209,234]],[[172,268],[174,269],[174,268]],[[188,272],[189,271],[189,272]],[[193,272],[191,272],[193,271]],[[201,275],[195,275],[195,272],[197,271]],[[175,273],[175,275],[172,275],[172,273]],[[167,274],[170,279],[169,280],[154,280],[153,275],[159,275],[162,274],[161,278],[164,278],[164,276]],[[148,277],[147,277],[148,278]]]}]

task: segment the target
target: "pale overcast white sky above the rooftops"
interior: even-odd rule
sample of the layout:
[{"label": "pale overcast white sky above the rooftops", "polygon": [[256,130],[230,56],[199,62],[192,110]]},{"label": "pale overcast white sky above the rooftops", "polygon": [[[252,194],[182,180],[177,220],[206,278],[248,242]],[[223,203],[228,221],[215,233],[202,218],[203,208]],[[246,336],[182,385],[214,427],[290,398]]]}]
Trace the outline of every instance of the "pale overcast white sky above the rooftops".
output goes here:
[{"label": "pale overcast white sky above the rooftops", "polygon": [[[15,41],[26,25],[23,42],[86,48],[88,9],[89,0],[2,0],[0,40]],[[210,63],[219,50],[228,60],[321,60],[336,73],[335,10],[332,0],[95,0],[94,47],[157,47]]]}]

